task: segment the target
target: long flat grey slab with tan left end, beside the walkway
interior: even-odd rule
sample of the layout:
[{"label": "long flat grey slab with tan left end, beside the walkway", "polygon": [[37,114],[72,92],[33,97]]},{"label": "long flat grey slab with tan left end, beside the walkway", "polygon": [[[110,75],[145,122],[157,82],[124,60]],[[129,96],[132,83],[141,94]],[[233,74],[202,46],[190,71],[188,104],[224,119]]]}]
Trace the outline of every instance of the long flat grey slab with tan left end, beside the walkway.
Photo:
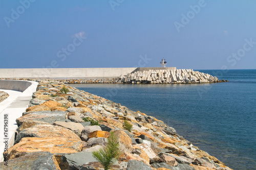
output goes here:
[{"label": "long flat grey slab with tan left end, beside the walkway", "polygon": [[38,111],[17,118],[16,123],[18,126],[20,126],[26,120],[36,120],[52,125],[56,121],[65,122],[67,120],[66,116],[67,113],[63,111]]}]

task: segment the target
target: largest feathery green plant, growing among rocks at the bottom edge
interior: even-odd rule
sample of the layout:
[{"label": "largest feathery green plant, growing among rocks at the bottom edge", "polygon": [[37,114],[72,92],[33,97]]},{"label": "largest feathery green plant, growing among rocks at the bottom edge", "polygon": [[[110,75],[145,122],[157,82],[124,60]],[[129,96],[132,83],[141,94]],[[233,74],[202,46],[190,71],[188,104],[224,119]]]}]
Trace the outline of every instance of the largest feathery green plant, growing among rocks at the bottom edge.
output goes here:
[{"label": "largest feathery green plant, growing among rocks at the bottom edge", "polygon": [[92,154],[102,164],[104,170],[109,170],[120,155],[118,138],[114,132],[110,133],[106,147],[99,151],[94,151]]}]

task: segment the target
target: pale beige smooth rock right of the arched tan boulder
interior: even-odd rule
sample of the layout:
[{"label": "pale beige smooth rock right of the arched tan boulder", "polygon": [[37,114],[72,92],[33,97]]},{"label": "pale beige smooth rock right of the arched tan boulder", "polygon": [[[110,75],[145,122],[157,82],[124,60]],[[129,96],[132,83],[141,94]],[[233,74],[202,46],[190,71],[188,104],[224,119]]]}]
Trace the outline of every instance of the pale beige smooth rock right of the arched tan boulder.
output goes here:
[{"label": "pale beige smooth rock right of the arched tan boulder", "polygon": [[83,130],[82,124],[74,123],[74,122],[54,122],[53,125],[70,129],[73,132],[75,132],[75,134],[79,137],[81,136],[81,133]]}]

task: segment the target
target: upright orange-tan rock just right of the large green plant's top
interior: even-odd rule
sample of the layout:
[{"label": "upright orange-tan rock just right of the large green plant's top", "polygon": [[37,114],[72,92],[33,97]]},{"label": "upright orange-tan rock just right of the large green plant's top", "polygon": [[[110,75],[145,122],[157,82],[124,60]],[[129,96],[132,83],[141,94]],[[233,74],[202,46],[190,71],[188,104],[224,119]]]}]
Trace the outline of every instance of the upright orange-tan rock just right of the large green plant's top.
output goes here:
[{"label": "upright orange-tan rock just right of the large green plant's top", "polygon": [[113,132],[118,138],[119,149],[122,152],[132,153],[132,151],[134,150],[132,146],[132,139],[122,130],[115,130]]}]

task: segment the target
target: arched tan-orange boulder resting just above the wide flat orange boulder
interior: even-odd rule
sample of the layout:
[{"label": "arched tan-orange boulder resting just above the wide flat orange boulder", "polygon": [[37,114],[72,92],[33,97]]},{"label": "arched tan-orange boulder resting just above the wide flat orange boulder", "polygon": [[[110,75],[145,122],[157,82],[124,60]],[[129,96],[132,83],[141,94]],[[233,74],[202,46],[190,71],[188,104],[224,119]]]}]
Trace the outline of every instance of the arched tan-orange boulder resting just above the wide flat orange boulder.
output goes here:
[{"label": "arched tan-orange boulder resting just above the wide flat orange boulder", "polygon": [[24,137],[66,137],[79,140],[80,138],[71,130],[52,125],[35,125],[26,128],[18,133],[14,144],[18,143]]}]

